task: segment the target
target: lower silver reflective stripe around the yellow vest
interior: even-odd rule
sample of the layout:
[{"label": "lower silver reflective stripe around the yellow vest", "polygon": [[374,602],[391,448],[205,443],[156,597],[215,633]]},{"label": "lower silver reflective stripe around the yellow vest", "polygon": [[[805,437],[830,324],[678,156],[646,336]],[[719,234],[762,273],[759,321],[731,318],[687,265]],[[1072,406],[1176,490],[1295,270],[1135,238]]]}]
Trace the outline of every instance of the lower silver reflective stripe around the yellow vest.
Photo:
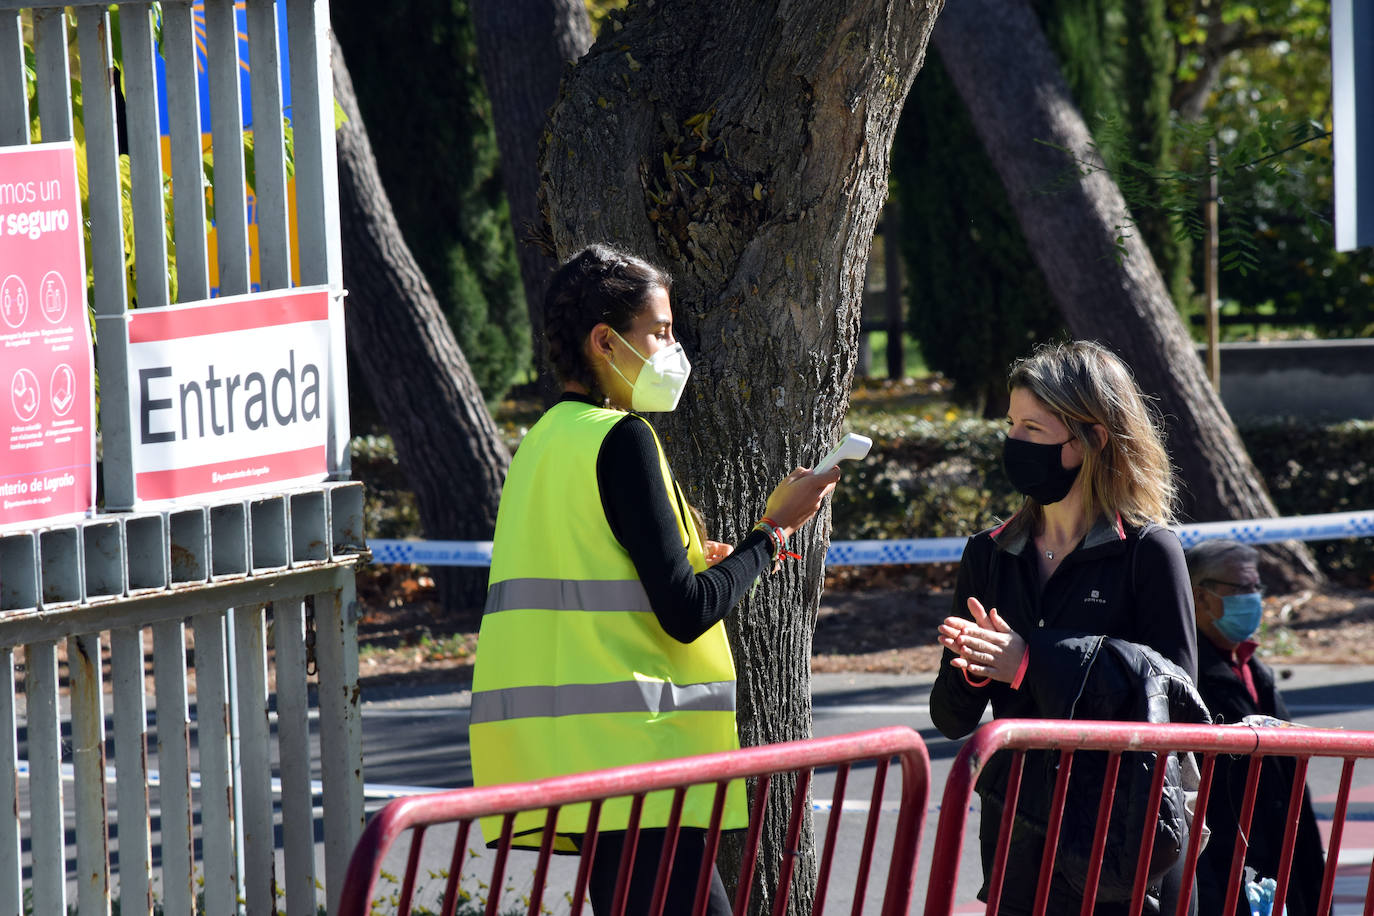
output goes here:
[{"label": "lower silver reflective stripe around the yellow vest", "polygon": [[734,713],[735,683],[672,684],[668,681],[618,681],[616,684],[565,684],[562,687],[507,687],[473,694],[469,720],[503,722],[544,715],[598,713]]}]

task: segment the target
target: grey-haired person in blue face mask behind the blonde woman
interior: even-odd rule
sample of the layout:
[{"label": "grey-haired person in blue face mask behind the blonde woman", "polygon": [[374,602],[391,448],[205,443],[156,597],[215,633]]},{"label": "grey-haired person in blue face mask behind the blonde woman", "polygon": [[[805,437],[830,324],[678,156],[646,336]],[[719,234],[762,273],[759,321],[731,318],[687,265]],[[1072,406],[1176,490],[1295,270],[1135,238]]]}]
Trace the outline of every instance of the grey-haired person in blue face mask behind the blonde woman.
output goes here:
[{"label": "grey-haired person in blue face mask behind the blonde woman", "polygon": [[[1197,608],[1197,687],[1213,721],[1234,724],[1246,715],[1287,720],[1289,710],[1275,687],[1274,670],[1254,654],[1259,647],[1254,636],[1264,612],[1259,552],[1246,544],[1217,538],[1193,545],[1184,552],[1184,559]],[[1226,905],[1231,851],[1245,803],[1249,766],[1248,757],[1223,754],[1216,758],[1206,806],[1212,839],[1198,857],[1200,913],[1221,913]],[[1245,864],[1257,872],[1256,879],[1278,878],[1293,777],[1292,758],[1264,758],[1250,820],[1250,845],[1245,854]],[[1315,916],[1325,865],[1312,798],[1304,790],[1285,902],[1289,916]],[[1249,916],[1249,912],[1241,895],[1235,913]]]}]

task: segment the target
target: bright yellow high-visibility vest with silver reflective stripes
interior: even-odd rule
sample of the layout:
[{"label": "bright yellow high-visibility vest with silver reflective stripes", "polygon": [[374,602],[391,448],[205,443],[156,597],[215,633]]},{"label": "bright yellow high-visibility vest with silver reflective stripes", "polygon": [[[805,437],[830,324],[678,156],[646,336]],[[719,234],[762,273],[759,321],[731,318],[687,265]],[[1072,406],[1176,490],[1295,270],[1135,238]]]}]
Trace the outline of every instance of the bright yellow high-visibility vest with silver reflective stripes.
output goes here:
[{"label": "bright yellow high-visibility vest with silver reflective stripes", "polygon": [[[629,553],[611,533],[596,481],[602,441],[622,411],[555,404],[511,460],[496,516],[469,731],[477,786],[735,750],[735,663],[725,628],[691,644],[668,636]],[[651,428],[651,427],[650,427]],[[657,442],[657,437],[655,437]],[[662,445],[658,463],[692,569],[706,569]],[[710,823],[714,786],[687,792],[684,827]],[[671,792],[644,799],[642,827],[665,827]],[[555,850],[576,850],[587,805],[562,809]],[[602,806],[598,829],[625,829],[629,799]],[[517,846],[537,847],[544,812],[517,817]],[[731,786],[721,825],[747,824]],[[502,818],[484,818],[486,842]]]}]

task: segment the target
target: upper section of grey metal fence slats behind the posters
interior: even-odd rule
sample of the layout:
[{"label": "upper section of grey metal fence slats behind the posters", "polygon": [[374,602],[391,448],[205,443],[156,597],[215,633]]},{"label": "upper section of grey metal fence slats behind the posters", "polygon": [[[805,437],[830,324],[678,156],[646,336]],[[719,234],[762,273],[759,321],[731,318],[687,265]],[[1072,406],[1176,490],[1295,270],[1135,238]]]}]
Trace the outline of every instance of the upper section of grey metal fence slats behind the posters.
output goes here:
[{"label": "upper section of grey metal fence slats behind the posters", "polygon": [[[283,110],[278,5],[286,7],[287,45],[291,60],[291,110]],[[71,44],[69,16],[62,7],[37,7],[23,14],[29,0],[0,0],[0,143],[29,141],[29,107],[25,92],[25,15],[32,23],[37,63],[37,103],[43,140],[71,137],[71,93],[67,80]],[[297,163],[295,229],[300,282],[306,286],[342,287],[342,251],[338,235],[338,168],[334,151],[334,95],[330,74],[330,21],[324,0],[243,0],[247,32],[239,34],[235,0],[203,0],[196,22],[191,0],[161,4],[157,32],[153,4],[117,3],[122,56],[110,47],[109,3],[78,0],[67,4],[76,23],[81,58],[82,122],[89,176],[92,304],[102,402],[126,404],[125,339],[122,319],[129,302],[129,271],[125,249],[132,242],[139,308],[209,297],[209,264],[205,236],[206,202],[202,185],[201,99],[196,91],[198,30],[203,34],[210,87],[210,136],[214,166],[214,229],[218,294],[249,293],[257,258],[264,290],[291,284],[291,203],[287,195],[287,150],[283,117],[290,115],[293,155]],[[155,47],[155,36],[161,47]],[[249,174],[246,168],[239,67],[240,40],[251,48],[250,98],[254,110],[254,173],[251,194],[257,214],[257,251],[247,231]],[[165,62],[168,146],[164,162],[159,132],[157,56]],[[122,77],[122,122],[113,76]],[[122,133],[118,128],[122,126]],[[131,174],[132,240],[124,238],[124,202],[120,191],[120,137],[124,137]],[[170,173],[173,190],[172,238],[176,243],[176,290],[169,286],[168,213],[164,195]],[[341,341],[339,341],[341,343]],[[338,369],[342,372],[342,369]],[[342,376],[337,375],[342,382]],[[346,391],[346,383],[339,391]],[[348,400],[331,400],[328,452],[335,477],[348,475]],[[133,505],[129,417],[117,409],[102,412],[104,499],[109,509]]]}]

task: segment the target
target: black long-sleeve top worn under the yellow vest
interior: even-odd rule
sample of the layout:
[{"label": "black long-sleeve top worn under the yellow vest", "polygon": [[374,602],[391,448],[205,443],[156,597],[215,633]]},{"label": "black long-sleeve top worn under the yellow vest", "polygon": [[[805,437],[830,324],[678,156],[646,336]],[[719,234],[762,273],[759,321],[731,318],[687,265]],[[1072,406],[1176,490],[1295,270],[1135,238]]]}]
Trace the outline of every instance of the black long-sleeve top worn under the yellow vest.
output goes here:
[{"label": "black long-sleeve top worn under the yellow vest", "polygon": [[[562,400],[595,404],[578,394]],[[658,444],[636,413],[627,413],[602,441],[596,483],[606,522],[629,553],[660,626],[679,643],[691,643],[724,619],[772,562],[768,536],[750,531],[734,553],[702,573],[692,570],[664,488]],[[686,505],[682,512],[690,525]]]}]

